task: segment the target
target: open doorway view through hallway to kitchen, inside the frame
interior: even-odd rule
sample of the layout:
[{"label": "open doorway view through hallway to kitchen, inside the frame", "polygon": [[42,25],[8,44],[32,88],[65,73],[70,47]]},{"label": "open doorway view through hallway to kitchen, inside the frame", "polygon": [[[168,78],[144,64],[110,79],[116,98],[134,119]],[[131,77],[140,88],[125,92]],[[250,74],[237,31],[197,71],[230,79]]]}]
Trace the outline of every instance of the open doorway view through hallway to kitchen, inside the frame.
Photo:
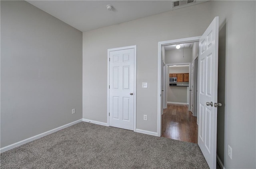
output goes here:
[{"label": "open doorway view through hallway to kitchen, inside the frame", "polygon": [[[176,46],[180,46],[177,49]],[[198,56],[199,42],[166,44],[162,49],[162,59],[166,63],[166,106],[163,106],[161,136],[180,141],[197,143],[198,130],[196,110],[193,107],[194,61]],[[164,95],[163,95],[164,96]]]}]

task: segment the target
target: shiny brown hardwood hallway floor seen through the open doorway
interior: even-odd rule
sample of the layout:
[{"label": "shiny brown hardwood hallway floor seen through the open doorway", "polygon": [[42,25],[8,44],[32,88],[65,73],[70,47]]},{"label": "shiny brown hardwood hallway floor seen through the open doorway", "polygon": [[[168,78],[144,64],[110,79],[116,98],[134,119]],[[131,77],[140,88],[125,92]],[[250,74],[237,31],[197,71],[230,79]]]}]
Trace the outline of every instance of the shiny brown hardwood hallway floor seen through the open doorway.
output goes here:
[{"label": "shiny brown hardwood hallway floor seen through the open doorway", "polygon": [[196,117],[188,105],[168,104],[162,115],[162,137],[197,143]]}]

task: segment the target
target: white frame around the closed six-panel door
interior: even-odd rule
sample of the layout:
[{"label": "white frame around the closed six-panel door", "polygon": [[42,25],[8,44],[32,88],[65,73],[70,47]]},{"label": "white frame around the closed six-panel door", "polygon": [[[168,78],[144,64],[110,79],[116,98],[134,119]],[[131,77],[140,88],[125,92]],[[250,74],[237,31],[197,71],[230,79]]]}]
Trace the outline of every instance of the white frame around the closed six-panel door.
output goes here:
[{"label": "white frame around the closed six-panel door", "polygon": [[108,49],[108,81],[107,81],[107,126],[109,126],[109,60],[110,60],[110,52],[116,51],[116,50],[125,50],[125,49],[134,49],[134,121],[133,121],[133,131],[136,131],[136,95],[137,95],[137,45],[133,46],[125,46],[120,48],[112,48]]}]

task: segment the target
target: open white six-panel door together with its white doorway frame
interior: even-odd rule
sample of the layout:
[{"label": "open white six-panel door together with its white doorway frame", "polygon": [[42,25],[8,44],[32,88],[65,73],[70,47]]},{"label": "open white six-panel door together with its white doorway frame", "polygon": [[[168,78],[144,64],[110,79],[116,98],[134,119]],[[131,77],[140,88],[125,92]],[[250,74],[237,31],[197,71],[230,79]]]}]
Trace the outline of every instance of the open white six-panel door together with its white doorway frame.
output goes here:
[{"label": "open white six-panel door together with its white doorway frame", "polygon": [[[157,134],[161,135],[162,90],[161,61],[163,46],[199,41],[198,55],[198,146],[210,168],[216,168],[217,107],[218,104],[218,22],[216,16],[202,36],[158,42],[158,121]],[[191,107],[188,107],[190,109]]]}]

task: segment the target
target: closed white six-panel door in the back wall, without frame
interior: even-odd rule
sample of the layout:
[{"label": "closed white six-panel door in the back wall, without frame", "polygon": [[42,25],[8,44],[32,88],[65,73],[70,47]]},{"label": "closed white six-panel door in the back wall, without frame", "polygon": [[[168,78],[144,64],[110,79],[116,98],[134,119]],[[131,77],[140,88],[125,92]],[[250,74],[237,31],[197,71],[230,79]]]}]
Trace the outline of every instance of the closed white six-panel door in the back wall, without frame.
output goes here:
[{"label": "closed white six-panel door in the back wall, without frame", "polygon": [[134,130],[134,48],[109,58],[109,125]]}]

